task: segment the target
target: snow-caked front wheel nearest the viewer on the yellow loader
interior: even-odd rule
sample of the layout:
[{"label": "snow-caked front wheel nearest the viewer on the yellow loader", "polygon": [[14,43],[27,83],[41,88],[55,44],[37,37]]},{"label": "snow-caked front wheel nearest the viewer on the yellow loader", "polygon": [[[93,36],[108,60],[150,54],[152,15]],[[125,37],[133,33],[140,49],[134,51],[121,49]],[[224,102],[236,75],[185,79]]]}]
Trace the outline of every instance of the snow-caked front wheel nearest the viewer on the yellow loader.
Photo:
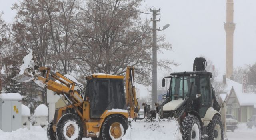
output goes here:
[{"label": "snow-caked front wheel nearest the viewer on the yellow loader", "polygon": [[56,136],[58,140],[82,140],[83,123],[81,119],[72,113],[64,114],[58,120]]}]

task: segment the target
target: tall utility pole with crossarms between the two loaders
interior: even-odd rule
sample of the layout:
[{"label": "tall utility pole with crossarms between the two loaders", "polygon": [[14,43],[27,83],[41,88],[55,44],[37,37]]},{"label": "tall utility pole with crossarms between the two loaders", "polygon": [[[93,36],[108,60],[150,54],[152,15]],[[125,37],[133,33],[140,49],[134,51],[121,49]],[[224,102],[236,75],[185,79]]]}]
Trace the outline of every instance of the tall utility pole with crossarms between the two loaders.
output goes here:
[{"label": "tall utility pole with crossarms between the two loaders", "polygon": [[154,103],[157,102],[157,44],[156,44],[156,22],[160,21],[156,19],[156,15],[159,15],[159,10],[151,10],[150,12],[153,12],[153,18],[151,21],[153,22],[153,46],[152,46],[152,109],[154,110]]}]

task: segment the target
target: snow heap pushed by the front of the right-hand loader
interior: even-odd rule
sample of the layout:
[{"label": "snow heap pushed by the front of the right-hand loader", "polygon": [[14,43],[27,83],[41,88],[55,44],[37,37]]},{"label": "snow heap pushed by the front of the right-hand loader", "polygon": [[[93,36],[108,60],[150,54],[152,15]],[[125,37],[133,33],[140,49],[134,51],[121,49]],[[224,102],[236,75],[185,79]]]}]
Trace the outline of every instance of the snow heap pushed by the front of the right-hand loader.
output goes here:
[{"label": "snow heap pushed by the front of the right-hand loader", "polygon": [[182,140],[176,120],[132,121],[122,140]]}]

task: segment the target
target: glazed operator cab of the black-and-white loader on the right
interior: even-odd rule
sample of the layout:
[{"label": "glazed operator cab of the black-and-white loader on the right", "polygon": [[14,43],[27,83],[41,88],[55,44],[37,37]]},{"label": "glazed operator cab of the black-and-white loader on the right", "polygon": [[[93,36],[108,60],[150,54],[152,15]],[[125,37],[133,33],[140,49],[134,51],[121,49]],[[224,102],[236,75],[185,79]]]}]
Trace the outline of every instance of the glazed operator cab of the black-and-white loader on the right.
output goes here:
[{"label": "glazed operator cab of the black-and-white loader on the right", "polygon": [[207,109],[213,106],[211,77],[211,72],[202,71],[172,73],[171,76],[163,78],[163,87],[165,86],[165,79],[170,78],[169,89],[163,98],[169,102],[189,98],[192,101],[191,110],[199,112],[200,117],[204,118]]}]

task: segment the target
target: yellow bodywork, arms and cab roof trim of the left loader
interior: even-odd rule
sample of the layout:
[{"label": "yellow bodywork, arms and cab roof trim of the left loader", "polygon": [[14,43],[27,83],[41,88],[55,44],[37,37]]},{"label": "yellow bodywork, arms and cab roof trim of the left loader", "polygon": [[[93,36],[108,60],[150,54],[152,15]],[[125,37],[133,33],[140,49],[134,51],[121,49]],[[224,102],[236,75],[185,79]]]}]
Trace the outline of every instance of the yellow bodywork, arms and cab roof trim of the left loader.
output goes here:
[{"label": "yellow bodywork, arms and cab roof trim of the left loader", "polygon": [[[118,114],[124,118],[136,118],[137,110],[139,110],[138,99],[136,98],[134,86],[134,68],[128,67],[126,71],[126,105],[128,111],[109,111],[105,110],[100,118],[90,118],[90,99],[82,98],[80,93],[75,88],[75,82],[66,78],[58,72],[50,70],[50,68],[39,68],[41,74],[37,77],[42,83],[46,84],[46,88],[65,96],[65,99],[70,103],[69,105],[57,108],[53,120],[53,131],[56,132],[56,125],[62,115],[66,114],[69,110],[74,109],[78,116],[84,123],[84,137],[98,137],[102,124],[106,118],[111,115]],[[50,76],[61,84],[50,80]],[[99,79],[124,79],[124,76],[108,75],[108,74],[92,74],[86,77],[86,80]]]}]

